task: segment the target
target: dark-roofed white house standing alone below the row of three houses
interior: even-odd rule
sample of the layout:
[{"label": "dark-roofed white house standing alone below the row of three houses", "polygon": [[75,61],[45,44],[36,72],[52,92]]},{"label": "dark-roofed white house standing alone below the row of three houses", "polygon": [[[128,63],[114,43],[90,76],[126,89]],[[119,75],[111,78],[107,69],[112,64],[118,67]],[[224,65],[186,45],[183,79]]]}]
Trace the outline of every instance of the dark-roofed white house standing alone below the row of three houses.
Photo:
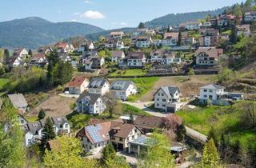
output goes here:
[{"label": "dark-roofed white house standing alone below the row of three houses", "polygon": [[78,113],[102,114],[106,109],[106,104],[103,102],[101,94],[83,92],[80,94],[76,104]]}]

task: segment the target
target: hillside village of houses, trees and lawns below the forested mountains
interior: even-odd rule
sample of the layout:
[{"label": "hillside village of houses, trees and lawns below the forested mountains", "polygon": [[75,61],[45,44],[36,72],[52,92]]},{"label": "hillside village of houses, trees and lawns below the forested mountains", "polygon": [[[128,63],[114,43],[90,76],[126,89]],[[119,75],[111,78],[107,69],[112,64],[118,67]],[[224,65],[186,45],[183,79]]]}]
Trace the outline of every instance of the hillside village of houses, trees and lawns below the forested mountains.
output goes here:
[{"label": "hillside village of houses, trees and lawns below the forested mountains", "polygon": [[97,41],[1,49],[1,135],[21,131],[24,167],[58,167],[76,142],[65,159],[88,165],[74,167],[255,167],[256,12],[246,4]]}]

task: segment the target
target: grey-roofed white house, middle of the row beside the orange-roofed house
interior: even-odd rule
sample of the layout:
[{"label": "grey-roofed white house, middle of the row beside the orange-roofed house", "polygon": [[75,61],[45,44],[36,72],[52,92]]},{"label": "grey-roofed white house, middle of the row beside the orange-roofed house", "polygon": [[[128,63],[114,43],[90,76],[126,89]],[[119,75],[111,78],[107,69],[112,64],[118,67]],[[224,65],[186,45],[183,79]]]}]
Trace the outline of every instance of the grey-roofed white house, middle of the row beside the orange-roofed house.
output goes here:
[{"label": "grey-roofed white house, middle of the row beside the orange-roofed house", "polygon": [[88,88],[90,94],[100,94],[103,96],[110,91],[110,82],[105,78],[92,78]]}]

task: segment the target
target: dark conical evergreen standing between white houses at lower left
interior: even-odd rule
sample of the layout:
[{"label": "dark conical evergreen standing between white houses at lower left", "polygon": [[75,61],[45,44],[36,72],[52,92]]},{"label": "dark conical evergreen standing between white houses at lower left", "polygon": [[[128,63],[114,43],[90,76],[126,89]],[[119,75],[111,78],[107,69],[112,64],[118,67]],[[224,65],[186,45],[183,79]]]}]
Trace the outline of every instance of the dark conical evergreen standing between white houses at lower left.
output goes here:
[{"label": "dark conical evergreen standing between white houses at lower left", "polygon": [[41,145],[42,150],[46,149],[46,144],[48,141],[55,138],[55,132],[54,132],[54,123],[51,121],[50,118],[46,118],[45,126],[43,126],[42,130],[42,138],[41,138]]}]

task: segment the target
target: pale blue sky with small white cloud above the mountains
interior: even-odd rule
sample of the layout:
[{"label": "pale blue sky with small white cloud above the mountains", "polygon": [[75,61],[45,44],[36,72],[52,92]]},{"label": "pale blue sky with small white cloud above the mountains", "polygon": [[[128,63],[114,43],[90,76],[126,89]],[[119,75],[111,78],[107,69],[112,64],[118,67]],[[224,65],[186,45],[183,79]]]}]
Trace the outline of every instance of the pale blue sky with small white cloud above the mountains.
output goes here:
[{"label": "pale blue sky with small white cloud above the mountains", "polygon": [[166,14],[216,10],[243,0],[2,0],[0,22],[41,17],[110,30],[138,26]]}]

